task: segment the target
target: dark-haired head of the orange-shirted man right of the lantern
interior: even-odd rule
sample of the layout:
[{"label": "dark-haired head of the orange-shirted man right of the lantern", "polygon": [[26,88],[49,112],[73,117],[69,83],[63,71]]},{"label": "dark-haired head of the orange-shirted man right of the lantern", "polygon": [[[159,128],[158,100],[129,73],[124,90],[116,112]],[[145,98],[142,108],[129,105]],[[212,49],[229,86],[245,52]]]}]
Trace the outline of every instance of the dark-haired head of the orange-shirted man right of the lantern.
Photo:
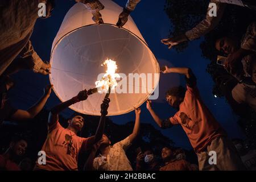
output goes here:
[{"label": "dark-haired head of the orange-shirted man right of the lantern", "polygon": [[179,109],[181,102],[183,102],[185,97],[185,88],[183,86],[175,86],[167,90],[166,101],[172,107]]}]

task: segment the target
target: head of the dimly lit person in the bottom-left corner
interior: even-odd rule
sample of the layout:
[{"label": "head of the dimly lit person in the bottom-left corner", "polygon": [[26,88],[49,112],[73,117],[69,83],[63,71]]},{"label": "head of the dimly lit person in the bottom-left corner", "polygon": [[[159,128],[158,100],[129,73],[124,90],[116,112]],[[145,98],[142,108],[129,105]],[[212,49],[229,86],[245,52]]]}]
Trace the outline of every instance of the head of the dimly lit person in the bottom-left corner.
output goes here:
[{"label": "head of the dimly lit person in the bottom-left corner", "polygon": [[15,136],[9,144],[9,150],[14,156],[23,156],[27,150],[26,139]]}]

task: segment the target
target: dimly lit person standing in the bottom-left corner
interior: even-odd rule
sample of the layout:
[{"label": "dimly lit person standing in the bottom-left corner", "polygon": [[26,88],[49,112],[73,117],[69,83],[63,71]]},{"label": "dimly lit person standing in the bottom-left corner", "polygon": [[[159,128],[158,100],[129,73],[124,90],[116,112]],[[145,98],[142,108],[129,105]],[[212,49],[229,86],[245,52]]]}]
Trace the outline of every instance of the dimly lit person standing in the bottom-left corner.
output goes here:
[{"label": "dimly lit person standing in the bottom-left corner", "polygon": [[27,140],[20,136],[14,136],[5,154],[0,155],[0,171],[20,171],[16,162],[27,150]]}]

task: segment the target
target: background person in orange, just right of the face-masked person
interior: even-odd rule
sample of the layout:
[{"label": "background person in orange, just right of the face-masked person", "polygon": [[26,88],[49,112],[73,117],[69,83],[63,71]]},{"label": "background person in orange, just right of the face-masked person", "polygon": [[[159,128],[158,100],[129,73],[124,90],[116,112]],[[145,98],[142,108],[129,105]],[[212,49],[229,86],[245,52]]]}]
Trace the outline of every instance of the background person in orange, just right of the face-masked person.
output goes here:
[{"label": "background person in orange, just right of the face-masked person", "polygon": [[191,164],[185,159],[177,159],[175,156],[174,148],[170,146],[163,147],[162,159],[164,166],[161,167],[160,171],[192,171]]}]

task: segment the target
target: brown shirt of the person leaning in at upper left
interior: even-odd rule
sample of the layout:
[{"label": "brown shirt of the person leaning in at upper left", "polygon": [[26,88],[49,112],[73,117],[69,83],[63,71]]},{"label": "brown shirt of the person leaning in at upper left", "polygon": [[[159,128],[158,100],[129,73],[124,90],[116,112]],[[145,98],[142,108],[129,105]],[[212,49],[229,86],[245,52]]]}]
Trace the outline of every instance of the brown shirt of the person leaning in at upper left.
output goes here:
[{"label": "brown shirt of the person leaning in at upper left", "polygon": [[38,19],[40,2],[43,0],[0,1],[0,75],[18,55],[26,57],[24,64],[34,72],[41,68],[43,61],[29,41]]}]

